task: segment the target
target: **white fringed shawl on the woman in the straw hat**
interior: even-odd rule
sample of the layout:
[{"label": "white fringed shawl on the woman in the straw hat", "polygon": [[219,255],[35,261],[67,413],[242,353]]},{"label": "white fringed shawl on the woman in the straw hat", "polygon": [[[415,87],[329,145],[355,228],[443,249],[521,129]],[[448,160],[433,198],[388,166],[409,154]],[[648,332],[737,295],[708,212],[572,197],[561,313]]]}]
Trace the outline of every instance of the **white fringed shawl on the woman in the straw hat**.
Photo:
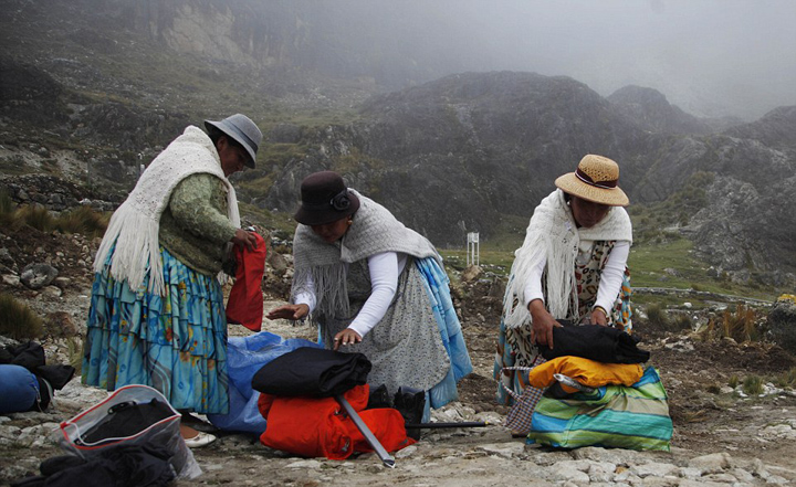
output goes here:
[{"label": "white fringed shawl on the woman in the straw hat", "polygon": [[525,283],[531,269],[544,257],[547,258],[547,310],[556,319],[570,318],[567,316],[570,303],[577,305],[575,258],[580,241],[632,242],[630,216],[624,208],[612,207],[596,225],[578,229],[564,192],[555,190],[536,207],[525,232],[525,241],[514,253],[514,264],[503,298],[506,328],[519,328],[531,322],[531,314],[523,306]]}]

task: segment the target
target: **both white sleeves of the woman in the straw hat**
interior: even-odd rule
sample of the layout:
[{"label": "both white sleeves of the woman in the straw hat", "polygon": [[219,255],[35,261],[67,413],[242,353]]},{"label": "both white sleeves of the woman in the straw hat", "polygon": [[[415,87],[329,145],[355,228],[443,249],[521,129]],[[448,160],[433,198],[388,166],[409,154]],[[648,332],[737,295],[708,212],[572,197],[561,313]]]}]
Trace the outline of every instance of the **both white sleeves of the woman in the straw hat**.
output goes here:
[{"label": "both white sleeves of the woman in the straw hat", "polygon": [[[606,261],[605,268],[600,275],[600,284],[597,289],[597,299],[595,306],[600,306],[606,311],[610,313],[614,307],[614,301],[619,296],[619,289],[625,276],[625,267],[627,266],[627,260],[630,255],[630,242],[619,241],[614,245],[608,261]],[[530,275],[528,280],[525,283],[524,288],[524,305],[527,308],[528,303],[534,299],[542,299],[544,301],[544,294],[542,292],[542,274],[544,273],[545,265],[547,265],[547,258],[542,260],[540,264],[534,267]]]}]

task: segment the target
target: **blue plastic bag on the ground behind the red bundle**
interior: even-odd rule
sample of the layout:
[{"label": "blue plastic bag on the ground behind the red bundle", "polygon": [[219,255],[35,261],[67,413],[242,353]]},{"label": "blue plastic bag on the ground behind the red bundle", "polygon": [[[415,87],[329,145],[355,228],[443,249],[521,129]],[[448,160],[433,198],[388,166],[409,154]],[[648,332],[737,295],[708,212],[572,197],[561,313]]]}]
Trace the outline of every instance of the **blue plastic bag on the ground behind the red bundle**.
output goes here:
[{"label": "blue plastic bag on the ground behind the red bundle", "polygon": [[251,380],[264,364],[300,347],[323,348],[310,340],[284,339],[268,331],[249,337],[230,338],[227,348],[230,412],[228,414],[208,414],[210,423],[222,431],[261,435],[265,431],[266,424],[258,409],[260,393],[252,389]]}]

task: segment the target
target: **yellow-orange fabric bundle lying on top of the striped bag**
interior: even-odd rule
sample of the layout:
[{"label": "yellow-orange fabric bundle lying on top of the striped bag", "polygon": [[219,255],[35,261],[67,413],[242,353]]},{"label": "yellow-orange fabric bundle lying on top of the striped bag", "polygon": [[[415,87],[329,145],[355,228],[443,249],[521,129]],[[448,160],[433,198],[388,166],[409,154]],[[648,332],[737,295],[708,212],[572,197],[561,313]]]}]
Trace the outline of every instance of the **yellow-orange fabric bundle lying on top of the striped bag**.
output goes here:
[{"label": "yellow-orange fabric bundle lying on top of the striped bag", "polygon": [[[643,369],[638,363],[603,363],[582,357],[564,356],[533,368],[528,373],[528,383],[538,389],[547,388],[556,381],[553,378],[555,373],[567,375],[589,388],[608,384],[630,387],[641,379]],[[565,392],[575,392],[564,384],[562,389]]]}]

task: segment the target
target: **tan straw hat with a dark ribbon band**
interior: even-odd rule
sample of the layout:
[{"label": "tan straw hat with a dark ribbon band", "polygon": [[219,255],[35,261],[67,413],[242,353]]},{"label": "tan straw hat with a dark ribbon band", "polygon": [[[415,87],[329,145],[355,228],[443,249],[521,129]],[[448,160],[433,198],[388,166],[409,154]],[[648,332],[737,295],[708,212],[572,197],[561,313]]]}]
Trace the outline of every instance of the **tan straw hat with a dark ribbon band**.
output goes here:
[{"label": "tan straw hat with a dark ribbon band", "polygon": [[609,207],[627,207],[627,194],[619,188],[619,165],[603,156],[593,153],[580,159],[575,172],[556,179],[562,191],[595,203]]}]

